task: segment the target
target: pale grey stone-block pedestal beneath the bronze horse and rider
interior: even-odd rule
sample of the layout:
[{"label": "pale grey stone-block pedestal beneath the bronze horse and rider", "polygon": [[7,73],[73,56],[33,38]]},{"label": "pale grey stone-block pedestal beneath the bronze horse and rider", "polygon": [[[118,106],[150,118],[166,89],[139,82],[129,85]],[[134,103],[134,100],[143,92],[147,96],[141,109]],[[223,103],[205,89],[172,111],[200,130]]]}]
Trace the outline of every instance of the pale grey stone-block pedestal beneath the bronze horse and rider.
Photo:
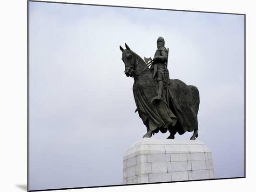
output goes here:
[{"label": "pale grey stone-block pedestal beneath the bronze horse and rider", "polygon": [[143,138],[123,158],[123,184],[198,179],[214,179],[211,152],[201,141]]}]

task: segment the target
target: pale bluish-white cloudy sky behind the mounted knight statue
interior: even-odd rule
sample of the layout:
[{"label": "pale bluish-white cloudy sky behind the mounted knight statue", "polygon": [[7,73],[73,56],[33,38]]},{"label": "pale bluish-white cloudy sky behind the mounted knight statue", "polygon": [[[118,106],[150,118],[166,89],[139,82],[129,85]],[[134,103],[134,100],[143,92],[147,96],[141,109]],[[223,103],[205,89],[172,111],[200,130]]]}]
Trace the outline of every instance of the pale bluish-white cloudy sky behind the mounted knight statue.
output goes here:
[{"label": "pale bluish-white cloudy sky behind the mounted knight statue", "polygon": [[119,45],[153,57],[159,36],[170,78],[199,90],[215,177],[244,176],[243,15],[30,2],[29,16],[30,190],[122,184],[146,127]]}]

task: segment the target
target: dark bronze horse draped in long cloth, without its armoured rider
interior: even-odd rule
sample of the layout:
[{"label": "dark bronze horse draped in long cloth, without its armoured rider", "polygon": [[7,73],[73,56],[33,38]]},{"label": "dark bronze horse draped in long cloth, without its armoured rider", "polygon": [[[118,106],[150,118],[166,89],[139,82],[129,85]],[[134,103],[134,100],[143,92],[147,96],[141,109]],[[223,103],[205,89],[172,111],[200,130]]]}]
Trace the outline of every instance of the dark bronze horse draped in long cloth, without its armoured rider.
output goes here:
[{"label": "dark bronze horse draped in long cloth, without its armoured rider", "polygon": [[159,131],[166,133],[168,130],[170,135],[167,139],[174,139],[177,132],[184,134],[193,131],[190,140],[195,140],[198,137],[198,89],[181,80],[168,79],[168,86],[163,91],[163,97],[168,99],[152,102],[157,94],[157,80],[153,78],[153,71],[127,44],[125,47],[123,49],[120,46],[121,59],[125,64],[125,75],[134,78],[135,113],[138,111],[147,127],[147,133],[143,137],[151,137]]}]

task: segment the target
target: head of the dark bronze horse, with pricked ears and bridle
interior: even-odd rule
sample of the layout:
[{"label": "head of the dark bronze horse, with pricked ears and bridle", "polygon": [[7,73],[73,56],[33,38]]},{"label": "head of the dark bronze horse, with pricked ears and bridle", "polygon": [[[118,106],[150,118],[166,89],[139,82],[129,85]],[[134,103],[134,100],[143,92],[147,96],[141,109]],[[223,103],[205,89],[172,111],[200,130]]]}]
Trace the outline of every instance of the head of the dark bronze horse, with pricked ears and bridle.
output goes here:
[{"label": "head of the dark bronze horse, with pricked ears and bridle", "polygon": [[125,65],[124,73],[127,77],[133,77],[136,63],[135,53],[130,50],[128,45],[125,44],[125,47],[126,49],[123,49],[120,46],[120,50],[122,51],[122,60]]}]

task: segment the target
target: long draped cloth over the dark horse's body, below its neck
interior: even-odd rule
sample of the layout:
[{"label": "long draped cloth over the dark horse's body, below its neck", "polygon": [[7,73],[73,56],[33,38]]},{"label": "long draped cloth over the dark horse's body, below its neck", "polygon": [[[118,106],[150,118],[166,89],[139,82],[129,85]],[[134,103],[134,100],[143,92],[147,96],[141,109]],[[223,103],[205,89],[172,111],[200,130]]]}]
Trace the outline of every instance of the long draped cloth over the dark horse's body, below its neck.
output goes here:
[{"label": "long draped cloth over the dark horse's body, below its neck", "polygon": [[147,82],[143,82],[143,79],[145,80],[142,78],[134,83],[133,93],[139,116],[147,130],[165,133],[166,128],[174,128],[179,134],[183,134],[198,129],[199,92],[195,86],[170,79],[168,91],[163,91],[165,99],[151,102],[157,92],[157,83],[154,79]]}]

